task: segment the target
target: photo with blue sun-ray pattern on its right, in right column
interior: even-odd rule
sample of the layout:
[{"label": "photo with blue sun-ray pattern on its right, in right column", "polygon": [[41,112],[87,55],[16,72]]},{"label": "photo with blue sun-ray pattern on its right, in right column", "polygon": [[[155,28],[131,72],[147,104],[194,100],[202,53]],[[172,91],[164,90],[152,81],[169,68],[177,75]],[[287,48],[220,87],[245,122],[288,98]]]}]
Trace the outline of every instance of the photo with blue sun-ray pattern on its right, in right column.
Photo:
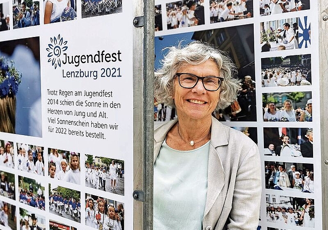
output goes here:
[{"label": "photo with blue sun-ray pattern on its right, in right column", "polygon": [[260,31],[262,52],[311,46],[311,25],[308,16],[261,22]]}]

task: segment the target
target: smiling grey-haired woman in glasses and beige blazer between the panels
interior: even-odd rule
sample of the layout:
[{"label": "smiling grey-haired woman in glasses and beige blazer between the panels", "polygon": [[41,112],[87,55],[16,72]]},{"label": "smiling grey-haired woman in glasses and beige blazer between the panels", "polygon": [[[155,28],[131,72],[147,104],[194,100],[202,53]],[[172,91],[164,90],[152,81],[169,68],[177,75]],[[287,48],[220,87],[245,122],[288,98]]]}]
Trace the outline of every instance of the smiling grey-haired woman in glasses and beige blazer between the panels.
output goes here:
[{"label": "smiling grey-haired woman in glasses and beige blazer between the panels", "polygon": [[154,229],[255,229],[258,148],[211,116],[236,99],[234,64],[201,42],[169,48],[162,63],[155,97],[175,106],[178,119],[154,133]]}]

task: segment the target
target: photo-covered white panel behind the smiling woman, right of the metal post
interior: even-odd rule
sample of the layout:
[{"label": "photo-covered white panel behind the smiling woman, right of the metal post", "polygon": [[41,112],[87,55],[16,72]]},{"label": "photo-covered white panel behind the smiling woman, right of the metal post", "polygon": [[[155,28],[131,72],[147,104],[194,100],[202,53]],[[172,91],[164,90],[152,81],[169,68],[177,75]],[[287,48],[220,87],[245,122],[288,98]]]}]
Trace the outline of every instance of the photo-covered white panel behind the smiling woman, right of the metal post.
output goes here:
[{"label": "photo-covered white panel behind the smiling woman, right of the metal post", "polygon": [[[314,123],[319,122],[319,79],[312,79],[317,71],[311,40],[315,6],[309,0],[155,1],[155,12],[159,9],[155,72],[167,47],[192,41],[227,52],[237,67],[237,99],[212,115],[258,144],[265,197],[258,229],[316,229],[315,212],[321,211],[315,209],[320,191],[314,188],[321,176],[314,175],[320,157],[319,135],[313,135],[320,132]],[[155,98],[155,127],[175,118],[174,106]]]}]

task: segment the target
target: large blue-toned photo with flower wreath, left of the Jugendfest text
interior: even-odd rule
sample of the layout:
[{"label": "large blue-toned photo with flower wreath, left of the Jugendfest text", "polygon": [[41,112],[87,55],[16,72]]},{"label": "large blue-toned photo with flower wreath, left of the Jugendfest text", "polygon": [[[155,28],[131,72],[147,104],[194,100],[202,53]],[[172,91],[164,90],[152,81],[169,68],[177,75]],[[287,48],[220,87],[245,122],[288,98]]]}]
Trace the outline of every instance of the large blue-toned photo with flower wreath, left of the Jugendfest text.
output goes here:
[{"label": "large blue-toned photo with flower wreath, left of the Jugendfest text", "polygon": [[39,46],[39,37],[0,42],[0,132],[42,137]]}]

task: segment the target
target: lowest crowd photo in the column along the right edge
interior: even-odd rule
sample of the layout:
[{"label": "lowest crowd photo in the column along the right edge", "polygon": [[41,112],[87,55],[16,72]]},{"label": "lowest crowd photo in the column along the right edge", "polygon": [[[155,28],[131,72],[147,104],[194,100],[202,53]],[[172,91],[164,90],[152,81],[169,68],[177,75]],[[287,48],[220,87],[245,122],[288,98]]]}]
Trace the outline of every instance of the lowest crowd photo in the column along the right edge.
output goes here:
[{"label": "lowest crowd photo in the column along the right edge", "polygon": [[267,222],[315,227],[314,199],[267,194]]}]

